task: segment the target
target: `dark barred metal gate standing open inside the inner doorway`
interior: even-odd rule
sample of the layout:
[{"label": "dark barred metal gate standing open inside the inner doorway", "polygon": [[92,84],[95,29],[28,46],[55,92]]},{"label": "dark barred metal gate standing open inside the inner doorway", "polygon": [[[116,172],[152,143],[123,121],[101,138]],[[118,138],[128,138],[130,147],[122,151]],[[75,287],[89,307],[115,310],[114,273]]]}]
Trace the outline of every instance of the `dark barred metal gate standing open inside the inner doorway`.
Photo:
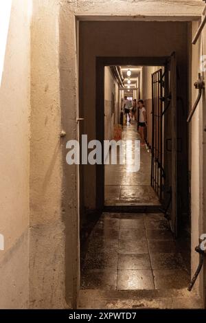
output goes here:
[{"label": "dark barred metal gate standing open inside the inner doorway", "polygon": [[152,169],[151,186],[162,199],[163,193],[163,72],[152,74]]}]

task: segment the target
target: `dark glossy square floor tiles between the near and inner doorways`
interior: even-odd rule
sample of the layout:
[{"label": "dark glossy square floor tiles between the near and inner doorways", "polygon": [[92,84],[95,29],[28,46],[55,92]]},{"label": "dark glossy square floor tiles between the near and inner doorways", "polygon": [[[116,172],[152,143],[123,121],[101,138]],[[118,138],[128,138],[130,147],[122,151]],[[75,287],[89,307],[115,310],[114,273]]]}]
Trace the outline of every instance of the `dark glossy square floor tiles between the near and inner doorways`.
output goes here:
[{"label": "dark glossy square floor tiles between the near and inner doorways", "polygon": [[82,261],[81,289],[183,289],[189,282],[163,214],[102,214]]}]

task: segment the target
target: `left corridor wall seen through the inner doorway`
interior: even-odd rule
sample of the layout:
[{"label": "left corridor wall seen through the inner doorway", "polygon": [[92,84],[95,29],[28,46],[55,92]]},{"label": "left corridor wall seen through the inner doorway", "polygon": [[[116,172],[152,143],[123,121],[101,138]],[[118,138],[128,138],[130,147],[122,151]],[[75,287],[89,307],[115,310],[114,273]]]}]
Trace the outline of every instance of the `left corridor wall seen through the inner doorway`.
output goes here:
[{"label": "left corridor wall seen through the inner doorway", "polygon": [[119,120],[119,86],[108,66],[104,68],[104,115],[104,139],[112,140]]}]

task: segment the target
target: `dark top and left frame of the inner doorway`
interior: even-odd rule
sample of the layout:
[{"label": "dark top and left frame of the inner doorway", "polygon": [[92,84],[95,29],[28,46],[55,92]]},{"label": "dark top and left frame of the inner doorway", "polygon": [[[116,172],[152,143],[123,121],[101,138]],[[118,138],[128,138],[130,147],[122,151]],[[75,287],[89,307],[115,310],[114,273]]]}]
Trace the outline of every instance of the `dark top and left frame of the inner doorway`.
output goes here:
[{"label": "dark top and left frame of the inner doorway", "polygon": [[96,139],[102,143],[102,165],[96,165],[96,208],[104,210],[104,67],[111,65],[165,66],[170,56],[96,57],[95,122]]}]

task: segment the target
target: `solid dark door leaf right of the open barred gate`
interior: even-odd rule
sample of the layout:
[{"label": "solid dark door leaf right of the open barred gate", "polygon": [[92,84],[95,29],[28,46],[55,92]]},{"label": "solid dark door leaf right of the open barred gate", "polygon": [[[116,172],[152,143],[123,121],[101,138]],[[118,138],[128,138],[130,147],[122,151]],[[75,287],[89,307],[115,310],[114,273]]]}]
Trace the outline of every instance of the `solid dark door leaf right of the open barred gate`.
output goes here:
[{"label": "solid dark door leaf right of the open barred gate", "polygon": [[[165,64],[164,73],[164,105],[163,111],[163,166],[164,203],[168,203],[168,219],[172,232],[178,235],[178,203],[177,203],[177,122],[176,122],[176,58],[173,53]],[[168,101],[168,102],[167,102]],[[169,194],[168,194],[169,193]]]}]

